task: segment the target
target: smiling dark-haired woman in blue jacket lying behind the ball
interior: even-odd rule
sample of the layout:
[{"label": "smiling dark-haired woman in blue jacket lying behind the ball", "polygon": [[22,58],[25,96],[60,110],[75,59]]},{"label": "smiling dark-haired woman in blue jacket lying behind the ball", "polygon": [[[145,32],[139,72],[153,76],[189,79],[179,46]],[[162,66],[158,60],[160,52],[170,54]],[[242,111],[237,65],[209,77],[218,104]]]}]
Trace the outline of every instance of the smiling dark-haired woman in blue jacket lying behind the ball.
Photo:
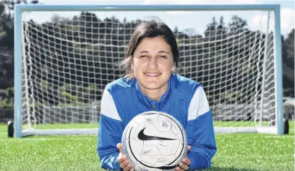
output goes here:
[{"label": "smiling dark-haired woman in blue jacket lying behind the ball", "polygon": [[176,75],[179,51],[166,24],[139,24],[121,66],[126,77],[107,84],[103,93],[98,132],[101,167],[131,170],[121,150],[121,136],[137,114],[157,110],[178,119],[188,136],[188,156],[176,170],[209,168],[216,144],[213,119],[204,90],[198,82]]}]

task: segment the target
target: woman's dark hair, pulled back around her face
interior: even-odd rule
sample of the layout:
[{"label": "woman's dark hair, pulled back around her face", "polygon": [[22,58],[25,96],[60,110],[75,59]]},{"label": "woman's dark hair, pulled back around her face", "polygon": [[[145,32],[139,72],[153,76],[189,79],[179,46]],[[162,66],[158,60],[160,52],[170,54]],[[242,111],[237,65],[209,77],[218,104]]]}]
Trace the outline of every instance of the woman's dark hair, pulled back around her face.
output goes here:
[{"label": "woman's dark hair, pulled back around her face", "polygon": [[156,20],[144,21],[135,27],[126,51],[126,59],[121,61],[119,64],[124,74],[128,76],[128,78],[134,77],[133,70],[131,69],[131,63],[133,61],[135,49],[139,43],[141,43],[142,39],[154,38],[156,36],[162,36],[166,43],[171,47],[173,61],[175,62],[176,67],[178,66],[179,50],[177,47],[176,38],[174,37],[171,29],[169,29],[169,27],[167,27],[167,25],[163,22],[157,22]]}]

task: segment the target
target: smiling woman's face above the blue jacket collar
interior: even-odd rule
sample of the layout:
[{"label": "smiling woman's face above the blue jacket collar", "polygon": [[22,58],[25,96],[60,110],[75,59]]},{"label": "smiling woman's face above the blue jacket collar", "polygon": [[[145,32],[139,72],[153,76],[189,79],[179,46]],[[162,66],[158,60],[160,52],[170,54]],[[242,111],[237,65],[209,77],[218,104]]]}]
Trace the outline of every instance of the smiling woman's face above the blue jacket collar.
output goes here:
[{"label": "smiling woman's face above the blue jacket collar", "polygon": [[133,54],[131,68],[143,92],[165,92],[175,70],[171,47],[162,36],[143,38]]}]

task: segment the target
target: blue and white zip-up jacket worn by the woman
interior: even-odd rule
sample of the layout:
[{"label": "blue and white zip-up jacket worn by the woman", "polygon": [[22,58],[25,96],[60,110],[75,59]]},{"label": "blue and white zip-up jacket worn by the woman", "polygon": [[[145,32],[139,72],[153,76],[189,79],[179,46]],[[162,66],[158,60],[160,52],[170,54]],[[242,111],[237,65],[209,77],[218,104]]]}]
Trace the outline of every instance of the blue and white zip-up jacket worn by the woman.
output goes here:
[{"label": "blue and white zip-up jacket worn by the woman", "polygon": [[204,89],[198,82],[172,73],[168,89],[160,101],[142,93],[135,78],[120,78],[107,84],[103,92],[98,130],[98,156],[102,168],[120,170],[117,158],[121,136],[137,114],[156,110],[171,114],[188,136],[189,170],[209,168],[216,152],[213,119]]}]

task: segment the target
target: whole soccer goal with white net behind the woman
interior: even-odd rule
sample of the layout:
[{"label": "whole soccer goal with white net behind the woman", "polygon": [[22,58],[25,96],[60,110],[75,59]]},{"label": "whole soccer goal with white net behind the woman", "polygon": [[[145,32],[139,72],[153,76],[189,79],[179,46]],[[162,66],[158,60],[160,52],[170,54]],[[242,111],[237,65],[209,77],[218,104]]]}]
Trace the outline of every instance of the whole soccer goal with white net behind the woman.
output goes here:
[{"label": "whole soccer goal with white net behind the woman", "polygon": [[178,73],[204,87],[215,133],[283,134],[279,5],[15,5],[14,136],[97,134],[114,64],[151,15],[174,31]]}]

